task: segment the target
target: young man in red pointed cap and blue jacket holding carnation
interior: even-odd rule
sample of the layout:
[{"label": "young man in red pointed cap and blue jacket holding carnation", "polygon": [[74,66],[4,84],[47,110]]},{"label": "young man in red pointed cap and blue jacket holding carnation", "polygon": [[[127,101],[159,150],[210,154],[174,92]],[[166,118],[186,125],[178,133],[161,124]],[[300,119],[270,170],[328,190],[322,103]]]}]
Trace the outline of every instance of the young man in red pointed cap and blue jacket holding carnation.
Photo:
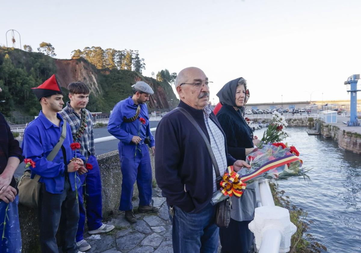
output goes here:
[{"label": "young man in red pointed cap and blue jacket holding carnation", "polygon": [[[39,116],[31,121],[24,132],[22,142],[23,156],[35,162],[31,169],[31,179],[39,175],[40,196],[38,219],[40,245],[42,252],[58,252],[56,232],[60,217],[64,219],[61,236],[62,251],[77,253],[75,235],[78,229],[79,206],[77,189],[80,188],[79,173],[87,172],[84,168],[85,157],[78,150],[73,151],[73,135],[69,124],[58,112],[63,107],[61,88],[52,75],[42,85],[32,88],[42,106]],[[66,136],[62,134],[66,124]],[[63,141],[64,140],[64,141]],[[56,144],[63,141],[53,159],[48,155]],[[56,149],[55,149],[56,150]],[[72,159],[75,156],[77,159]]]}]

